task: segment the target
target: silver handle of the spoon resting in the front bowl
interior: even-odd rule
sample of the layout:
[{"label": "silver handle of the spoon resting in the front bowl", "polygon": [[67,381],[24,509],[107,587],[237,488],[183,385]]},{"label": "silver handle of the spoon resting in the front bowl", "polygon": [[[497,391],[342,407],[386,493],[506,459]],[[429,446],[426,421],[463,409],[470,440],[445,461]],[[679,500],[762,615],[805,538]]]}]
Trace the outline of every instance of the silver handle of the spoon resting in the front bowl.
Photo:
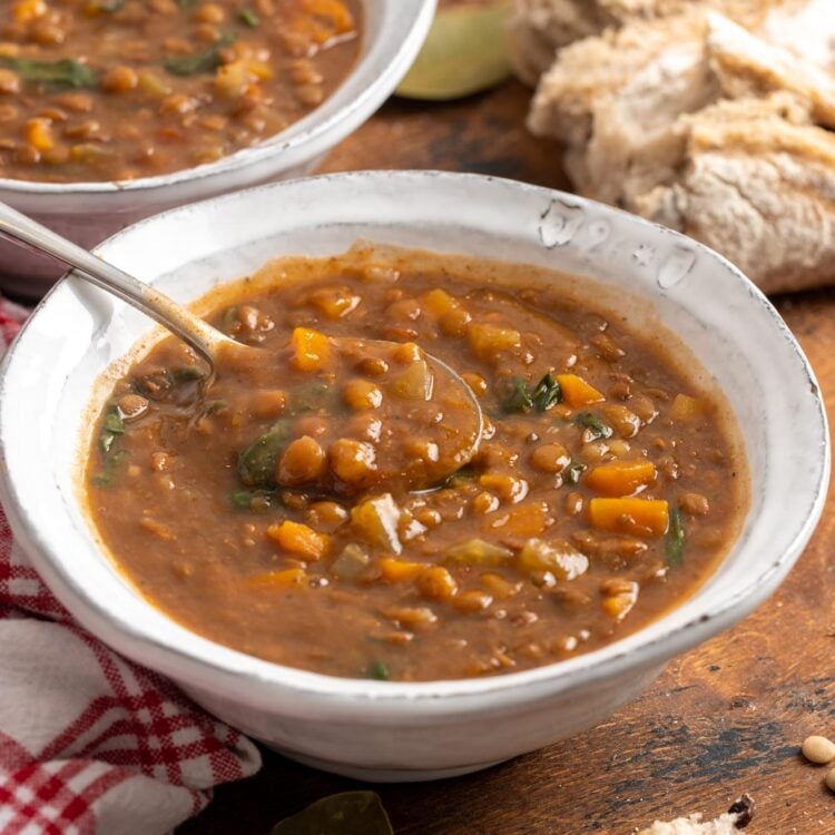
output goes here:
[{"label": "silver handle of the spoon resting in the front bowl", "polygon": [[73,267],[81,278],[112,293],[173,331],[210,365],[214,365],[220,344],[230,342],[187,307],[4,203],[0,203],[0,234]]}]

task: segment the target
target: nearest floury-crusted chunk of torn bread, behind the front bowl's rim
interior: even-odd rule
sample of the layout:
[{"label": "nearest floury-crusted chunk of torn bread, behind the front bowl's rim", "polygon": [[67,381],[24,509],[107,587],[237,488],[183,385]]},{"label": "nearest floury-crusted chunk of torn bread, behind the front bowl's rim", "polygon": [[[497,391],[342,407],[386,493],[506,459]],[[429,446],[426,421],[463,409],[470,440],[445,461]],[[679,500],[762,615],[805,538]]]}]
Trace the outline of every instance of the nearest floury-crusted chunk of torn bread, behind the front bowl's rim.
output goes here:
[{"label": "nearest floury-crusted chunk of torn bread, behind the front bowl's rim", "polygon": [[765,293],[831,283],[835,135],[786,92],[720,101],[684,126],[681,173],[630,208],[727,256]]}]

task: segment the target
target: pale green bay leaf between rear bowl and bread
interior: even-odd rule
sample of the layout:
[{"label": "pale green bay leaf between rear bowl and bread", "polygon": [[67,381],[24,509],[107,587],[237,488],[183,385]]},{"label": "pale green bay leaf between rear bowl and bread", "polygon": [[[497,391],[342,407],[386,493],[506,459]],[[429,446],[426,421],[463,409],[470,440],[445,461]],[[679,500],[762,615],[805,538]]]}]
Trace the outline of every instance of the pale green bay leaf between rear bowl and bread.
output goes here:
[{"label": "pale green bay leaf between rear bowl and bread", "polygon": [[463,6],[438,12],[397,96],[450,101],[481,92],[510,76],[508,4]]}]

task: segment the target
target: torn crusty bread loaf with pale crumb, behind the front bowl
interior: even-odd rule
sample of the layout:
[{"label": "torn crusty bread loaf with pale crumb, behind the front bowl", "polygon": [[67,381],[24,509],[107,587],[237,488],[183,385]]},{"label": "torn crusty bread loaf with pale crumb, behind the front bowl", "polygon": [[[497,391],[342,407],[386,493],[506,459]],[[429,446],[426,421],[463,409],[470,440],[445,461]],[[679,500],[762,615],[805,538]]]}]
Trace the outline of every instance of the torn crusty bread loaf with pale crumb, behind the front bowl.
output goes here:
[{"label": "torn crusty bread loaf with pale crumb, behind the front bowl", "polygon": [[529,126],[563,143],[578,191],[703,240],[766,292],[832,283],[835,14],[821,2],[725,0],[768,39],[718,0],[587,37],[542,76]]}]

